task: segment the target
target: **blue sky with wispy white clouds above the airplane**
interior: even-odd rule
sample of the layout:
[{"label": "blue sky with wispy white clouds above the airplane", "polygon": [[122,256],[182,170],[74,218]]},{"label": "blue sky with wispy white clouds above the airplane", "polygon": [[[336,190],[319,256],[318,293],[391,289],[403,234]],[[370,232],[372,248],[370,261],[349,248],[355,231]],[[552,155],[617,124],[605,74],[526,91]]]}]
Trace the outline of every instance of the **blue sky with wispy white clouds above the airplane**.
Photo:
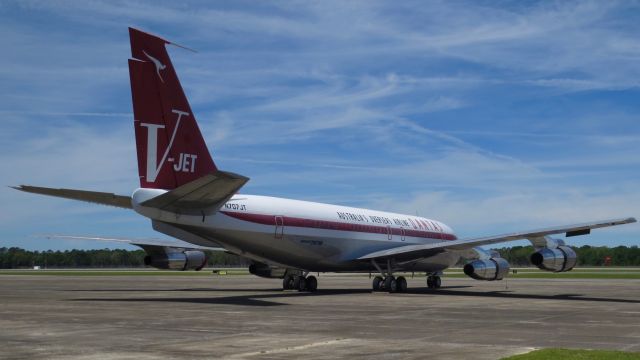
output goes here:
[{"label": "blue sky with wispy white clouds above the airplane", "polygon": [[[3,1],[0,184],[130,194],[127,27],[170,53],[245,193],[481,236],[640,216],[632,1]],[[0,188],[0,246],[160,237],[132,212]],[[640,226],[572,244],[640,245]]]}]

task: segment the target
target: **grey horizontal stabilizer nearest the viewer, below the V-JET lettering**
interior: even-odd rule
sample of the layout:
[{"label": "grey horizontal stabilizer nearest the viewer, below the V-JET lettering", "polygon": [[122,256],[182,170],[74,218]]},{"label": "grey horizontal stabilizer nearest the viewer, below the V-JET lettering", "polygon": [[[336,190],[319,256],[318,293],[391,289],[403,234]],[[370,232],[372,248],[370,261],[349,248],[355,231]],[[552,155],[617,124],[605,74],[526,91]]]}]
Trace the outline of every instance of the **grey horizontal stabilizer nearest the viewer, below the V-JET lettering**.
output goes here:
[{"label": "grey horizontal stabilizer nearest the viewer, below the V-JET lettering", "polygon": [[179,214],[210,215],[218,211],[249,178],[216,171],[179,186],[141,205]]}]

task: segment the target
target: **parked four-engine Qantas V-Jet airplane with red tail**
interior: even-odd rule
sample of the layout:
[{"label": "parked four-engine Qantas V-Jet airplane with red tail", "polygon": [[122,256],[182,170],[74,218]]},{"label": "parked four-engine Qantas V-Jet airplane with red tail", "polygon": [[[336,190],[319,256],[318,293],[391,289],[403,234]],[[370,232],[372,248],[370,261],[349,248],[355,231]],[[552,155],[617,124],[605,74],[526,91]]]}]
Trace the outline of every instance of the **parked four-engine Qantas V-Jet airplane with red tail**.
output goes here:
[{"label": "parked four-engine Qantas V-Jet airplane with red tail", "polygon": [[[577,255],[561,239],[635,218],[592,221],[469,239],[425,217],[330,205],[238,191],[249,178],[218,169],[200,133],[167,52],[171,43],[129,28],[129,75],[140,187],[131,196],[20,185],[17,190],[132,209],[153,229],[174,239],[109,239],[145,250],[145,264],[168,270],[201,270],[205,250],[251,260],[250,273],[282,279],[283,290],[314,292],[315,272],[379,274],[373,291],[404,292],[399,272],[424,272],[440,288],[443,271],[461,258],[476,280],[502,280],[509,263],[480,246],[527,239],[530,260],[542,270],[570,271]],[[61,236],[65,237],[65,236]]]}]

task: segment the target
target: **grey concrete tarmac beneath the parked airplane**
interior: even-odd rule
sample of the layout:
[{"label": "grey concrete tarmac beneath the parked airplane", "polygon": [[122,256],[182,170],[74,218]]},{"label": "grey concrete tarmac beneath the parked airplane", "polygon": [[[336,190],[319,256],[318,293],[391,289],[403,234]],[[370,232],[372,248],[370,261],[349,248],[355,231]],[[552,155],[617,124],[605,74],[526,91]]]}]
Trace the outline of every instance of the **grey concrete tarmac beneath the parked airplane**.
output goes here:
[{"label": "grey concrete tarmac beneath the parked airplane", "polygon": [[[480,282],[314,294],[254,276],[0,276],[3,359],[496,359],[532,348],[640,351],[640,280]],[[506,286],[505,286],[506,285]]]}]

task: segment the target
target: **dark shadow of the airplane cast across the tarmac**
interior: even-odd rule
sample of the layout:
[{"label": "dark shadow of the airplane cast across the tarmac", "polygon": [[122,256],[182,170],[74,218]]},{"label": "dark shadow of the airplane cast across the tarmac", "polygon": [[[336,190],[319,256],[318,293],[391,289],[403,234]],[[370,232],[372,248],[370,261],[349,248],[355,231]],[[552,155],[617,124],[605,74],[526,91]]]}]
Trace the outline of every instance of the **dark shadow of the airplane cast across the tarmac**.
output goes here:
[{"label": "dark shadow of the airplane cast across the tarmac", "polygon": [[[512,291],[464,291],[455,290],[467,288],[471,286],[445,286],[438,290],[429,288],[407,289],[404,293],[388,294],[384,292],[372,293],[370,289],[320,289],[314,293],[282,291],[280,289],[164,289],[164,290],[131,290],[131,289],[99,289],[99,290],[71,290],[71,291],[87,291],[87,292],[241,292],[243,295],[219,296],[219,297],[111,297],[111,298],[77,298],[68,301],[105,301],[105,302],[175,302],[175,303],[194,303],[194,304],[220,304],[220,305],[241,305],[241,306],[285,306],[287,303],[277,302],[278,299],[292,298],[296,296],[340,296],[340,295],[357,295],[372,294],[376,296],[407,296],[407,295],[428,295],[428,296],[469,296],[469,297],[491,297],[503,299],[535,299],[535,300],[566,300],[566,301],[590,301],[590,302],[616,302],[640,304],[640,300],[616,299],[616,298],[600,298],[587,297],[581,294],[557,294],[557,295],[538,295],[538,294],[522,294]],[[258,294],[256,292],[259,292]],[[250,293],[250,294],[247,294]]]}]

